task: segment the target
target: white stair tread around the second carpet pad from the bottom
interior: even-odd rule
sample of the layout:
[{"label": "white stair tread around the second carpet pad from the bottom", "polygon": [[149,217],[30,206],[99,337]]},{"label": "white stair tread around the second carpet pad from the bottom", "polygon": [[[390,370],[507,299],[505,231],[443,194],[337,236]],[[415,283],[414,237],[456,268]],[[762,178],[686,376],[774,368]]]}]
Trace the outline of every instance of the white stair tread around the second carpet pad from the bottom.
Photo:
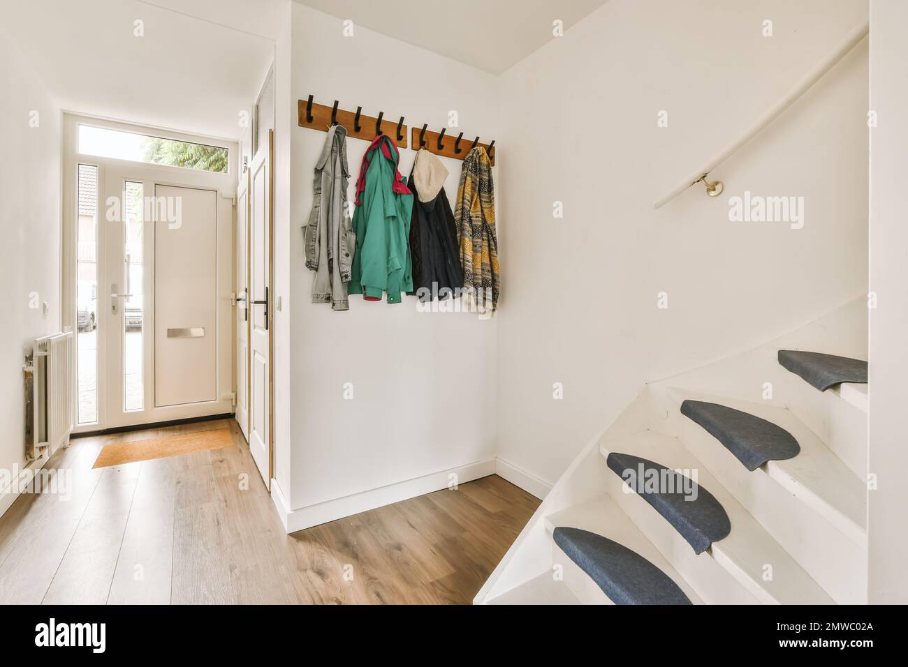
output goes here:
[{"label": "white stair tread around the second carpet pad from the bottom", "polygon": [[[731,533],[714,542],[707,553],[758,600],[781,604],[833,603],[820,585],[804,572],[677,438],[663,436],[655,431],[641,431],[616,441],[603,441],[599,445],[602,456],[608,456],[612,451],[647,458],[679,470],[692,479],[696,475],[697,484],[716,496],[732,525]],[[666,530],[675,530],[667,521],[665,526]],[[772,579],[769,581],[764,579],[765,565],[772,566]]]}]

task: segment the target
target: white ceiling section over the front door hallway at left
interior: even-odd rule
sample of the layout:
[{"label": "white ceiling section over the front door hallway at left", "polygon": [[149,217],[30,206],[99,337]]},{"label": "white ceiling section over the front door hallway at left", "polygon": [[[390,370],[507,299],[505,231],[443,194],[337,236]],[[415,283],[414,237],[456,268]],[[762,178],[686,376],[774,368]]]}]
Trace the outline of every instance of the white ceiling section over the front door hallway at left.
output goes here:
[{"label": "white ceiling section over the front door hallway at left", "polygon": [[261,36],[272,17],[252,11],[257,0],[230,5],[236,11],[217,0],[4,0],[0,30],[66,111],[236,139],[274,44]]}]

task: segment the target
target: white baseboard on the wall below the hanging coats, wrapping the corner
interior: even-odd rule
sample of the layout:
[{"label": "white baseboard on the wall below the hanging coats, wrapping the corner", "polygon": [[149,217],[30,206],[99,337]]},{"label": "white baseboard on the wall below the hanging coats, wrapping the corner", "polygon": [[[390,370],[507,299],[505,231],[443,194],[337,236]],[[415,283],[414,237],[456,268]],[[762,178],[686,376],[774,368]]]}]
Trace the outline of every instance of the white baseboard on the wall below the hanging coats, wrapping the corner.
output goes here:
[{"label": "white baseboard on the wall below the hanging coats, wrapping the corner", "polygon": [[458,483],[464,484],[474,479],[479,479],[479,477],[494,475],[495,470],[495,459],[487,458],[465,466],[439,470],[436,473],[429,473],[429,475],[414,477],[396,484],[380,486],[369,491],[345,495],[342,498],[335,498],[294,510],[290,509],[290,505],[287,503],[280,486],[277,485],[275,480],[271,480],[271,499],[281,515],[284,530],[287,533],[295,533],[304,528],[311,528],[313,525],[325,524],[335,519],[342,519],[344,516],[356,515],[382,505],[399,503],[401,500],[407,500],[417,495],[429,494],[433,491],[448,488],[450,475],[456,475]]}]

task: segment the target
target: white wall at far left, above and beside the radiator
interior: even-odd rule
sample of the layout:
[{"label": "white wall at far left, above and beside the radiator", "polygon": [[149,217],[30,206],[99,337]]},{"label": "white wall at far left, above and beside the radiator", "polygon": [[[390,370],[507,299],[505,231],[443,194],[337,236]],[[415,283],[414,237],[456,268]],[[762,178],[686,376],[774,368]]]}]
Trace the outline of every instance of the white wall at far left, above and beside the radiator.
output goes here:
[{"label": "white wall at far left, above and beside the radiator", "polygon": [[[31,66],[3,34],[0,90],[0,469],[15,470],[25,464],[25,351],[36,337],[60,329],[61,119]],[[29,125],[33,112],[37,127]],[[30,308],[33,293],[37,309]]]}]

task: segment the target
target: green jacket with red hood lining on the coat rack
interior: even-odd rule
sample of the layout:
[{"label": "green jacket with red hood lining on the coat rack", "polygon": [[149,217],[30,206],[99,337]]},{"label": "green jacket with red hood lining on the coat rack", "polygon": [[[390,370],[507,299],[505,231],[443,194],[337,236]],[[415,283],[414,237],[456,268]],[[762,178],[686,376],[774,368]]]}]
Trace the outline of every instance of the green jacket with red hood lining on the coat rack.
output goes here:
[{"label": "green jacket with red hood lining on the coat rack", "polygon": [[400,293],[412,291],[410,262],[410,214],[413,195],[397,171],[397,146],[384,134],[376,137],[366,151],[356,182],[356,211],[350,294],[362,294],[370,301],[400,303]]}]

